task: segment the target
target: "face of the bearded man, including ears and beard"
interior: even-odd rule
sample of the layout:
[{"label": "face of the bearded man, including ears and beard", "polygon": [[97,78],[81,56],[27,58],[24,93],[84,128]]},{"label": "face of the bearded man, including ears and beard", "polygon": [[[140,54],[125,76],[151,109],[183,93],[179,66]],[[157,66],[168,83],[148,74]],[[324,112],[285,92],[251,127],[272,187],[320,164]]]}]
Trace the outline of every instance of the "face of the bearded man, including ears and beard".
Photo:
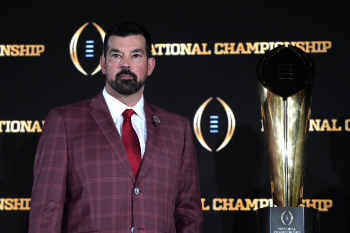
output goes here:
[{"label": "face of the bearded man, including ears and beard", "polygon": [[[122,95],[143,93],[144,83],[154,68],[154,59],[148,58],[145,39],[141,35],[108,39],[106,57],[100,58],[106,88]],[[109,88],[111,87],[111,88]]]}]

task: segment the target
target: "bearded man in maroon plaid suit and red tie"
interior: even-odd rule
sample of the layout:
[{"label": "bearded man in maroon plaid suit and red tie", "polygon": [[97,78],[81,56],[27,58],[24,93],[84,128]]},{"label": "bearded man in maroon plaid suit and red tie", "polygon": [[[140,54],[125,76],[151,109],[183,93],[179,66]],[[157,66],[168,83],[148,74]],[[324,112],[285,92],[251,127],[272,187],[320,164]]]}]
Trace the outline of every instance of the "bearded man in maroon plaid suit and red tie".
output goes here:
[{"label": "bearded man in maroon plaid suit and red tie", "polygon": [[100,59],[103,92],[49,112],[29,232],[202,232],[190,122],[143,100],[150,56],[142,27],[115,25]]}]

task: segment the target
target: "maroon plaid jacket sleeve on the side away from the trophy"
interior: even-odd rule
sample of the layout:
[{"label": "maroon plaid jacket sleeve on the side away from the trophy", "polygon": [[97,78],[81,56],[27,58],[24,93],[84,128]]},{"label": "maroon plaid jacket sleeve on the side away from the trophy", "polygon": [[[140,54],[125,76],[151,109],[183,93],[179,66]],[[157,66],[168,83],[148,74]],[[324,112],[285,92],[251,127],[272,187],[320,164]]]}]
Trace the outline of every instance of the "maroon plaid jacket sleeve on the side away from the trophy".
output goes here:
[{"label": "maroon plaid jacket sleeve on the side away from the trophy", "polygon": [[34,161],[29,233],[61,232],[66,192],[67,143],[62,114],[49,112]]}]

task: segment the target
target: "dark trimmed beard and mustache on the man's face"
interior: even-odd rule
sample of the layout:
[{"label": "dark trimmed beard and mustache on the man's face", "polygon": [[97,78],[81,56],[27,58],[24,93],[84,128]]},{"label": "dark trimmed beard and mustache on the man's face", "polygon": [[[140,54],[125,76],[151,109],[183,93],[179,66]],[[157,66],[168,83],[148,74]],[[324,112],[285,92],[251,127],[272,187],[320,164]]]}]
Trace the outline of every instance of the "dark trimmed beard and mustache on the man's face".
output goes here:
[{"label": "dark trimmed beard and mustache on the man's face", "polygon": [[[122,74],[131,75],[132,79],[122,79],[120,78]],[[135,73],[131,72],[129,69],[123,69],[116,74],[116,78],[114,80],[110,80],[107,77],[107,82],[119,94],[131,95],[136,93],[145,84],[146,79],[147,79],[147,71],[143,79],[141,79],[140,81],[137,81],[137,76]]]}]

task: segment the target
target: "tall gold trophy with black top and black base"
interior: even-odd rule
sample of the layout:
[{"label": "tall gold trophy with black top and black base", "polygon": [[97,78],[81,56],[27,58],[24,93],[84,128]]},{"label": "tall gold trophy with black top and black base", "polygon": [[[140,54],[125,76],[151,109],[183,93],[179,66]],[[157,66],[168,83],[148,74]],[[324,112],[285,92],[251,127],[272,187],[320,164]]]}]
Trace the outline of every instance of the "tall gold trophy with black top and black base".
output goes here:
[{"label": "tall gold trophy with black top and black base", "polygon": [[299,207],[311,113],[314,64],[303,50],[281,45],[258,63],[258,89],[274,207],[257,209],[257,232],[319,232],[319,211]]}]

